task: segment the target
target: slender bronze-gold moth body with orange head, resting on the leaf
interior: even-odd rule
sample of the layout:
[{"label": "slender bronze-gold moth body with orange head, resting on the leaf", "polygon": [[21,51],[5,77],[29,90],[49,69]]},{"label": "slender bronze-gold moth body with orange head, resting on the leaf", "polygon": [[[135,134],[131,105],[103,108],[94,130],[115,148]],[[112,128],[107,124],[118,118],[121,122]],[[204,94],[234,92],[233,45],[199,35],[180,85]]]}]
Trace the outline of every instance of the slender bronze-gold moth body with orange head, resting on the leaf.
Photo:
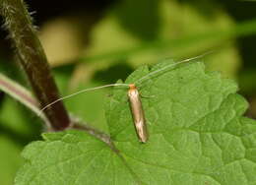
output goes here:
[{"label": "slender bronze-gold moth body with orange head, resting on the leaf", "polygon": [[134,84],[129,85],[129,88],[128,97],[136,132],[139,140],[142,143],[146,143],[148,141],[148,132],[140,93]]}]

